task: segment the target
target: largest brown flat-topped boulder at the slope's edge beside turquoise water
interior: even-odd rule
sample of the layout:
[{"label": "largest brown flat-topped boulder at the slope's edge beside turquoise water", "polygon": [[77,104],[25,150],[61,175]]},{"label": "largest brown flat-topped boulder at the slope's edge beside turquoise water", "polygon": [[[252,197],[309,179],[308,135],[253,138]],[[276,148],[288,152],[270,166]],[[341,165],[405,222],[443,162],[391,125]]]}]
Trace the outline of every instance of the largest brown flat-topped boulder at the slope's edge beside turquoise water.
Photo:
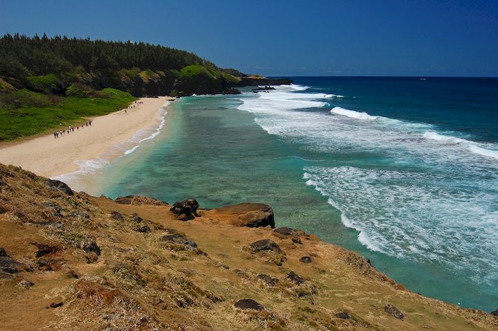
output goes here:
[{"label": "largest brown flat-topped boulder at the slope's edge beside turquoise water", "polygon": [[216,216],[226,217],[233,225],[256,228],[271,226],[275,228],[273,208],[267,204],[242,203],[214,209]]}]

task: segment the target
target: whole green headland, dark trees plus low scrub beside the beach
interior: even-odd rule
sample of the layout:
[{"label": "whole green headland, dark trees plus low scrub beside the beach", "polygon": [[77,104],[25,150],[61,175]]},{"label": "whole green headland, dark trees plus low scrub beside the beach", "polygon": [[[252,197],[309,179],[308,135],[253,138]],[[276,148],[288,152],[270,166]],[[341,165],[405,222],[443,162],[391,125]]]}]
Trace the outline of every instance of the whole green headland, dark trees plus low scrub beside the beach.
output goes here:
[{"label": "whole green headland, dark trees plus low scrub beside the beach", "polygon": [[134,97],[233,93],[239,80],[194,53],[164,46],[3,35],[0,141],[107,114]]}]

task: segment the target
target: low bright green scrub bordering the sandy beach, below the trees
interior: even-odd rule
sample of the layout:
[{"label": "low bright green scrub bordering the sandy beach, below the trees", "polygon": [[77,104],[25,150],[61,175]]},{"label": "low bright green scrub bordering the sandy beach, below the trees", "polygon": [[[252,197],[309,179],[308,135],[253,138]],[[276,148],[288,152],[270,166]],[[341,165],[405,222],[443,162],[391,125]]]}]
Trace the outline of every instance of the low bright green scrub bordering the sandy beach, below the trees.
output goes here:
[{"label": "low bright green scrub bordering the sandy beach, below the trees", "polygon": [[127,107],[130,102],[136,100],[129,93],[117,89],[103,89],[101,92],[105,98],[57,97],[54,100],[46,100],[48,97],[42,93],[17,91],[15,93],[19,98],[30,100],[38,98],[45,105],[44,107],[25,105],[16,109],[0,107],[0,141],[84,123],[85,117],[109,114]]}]

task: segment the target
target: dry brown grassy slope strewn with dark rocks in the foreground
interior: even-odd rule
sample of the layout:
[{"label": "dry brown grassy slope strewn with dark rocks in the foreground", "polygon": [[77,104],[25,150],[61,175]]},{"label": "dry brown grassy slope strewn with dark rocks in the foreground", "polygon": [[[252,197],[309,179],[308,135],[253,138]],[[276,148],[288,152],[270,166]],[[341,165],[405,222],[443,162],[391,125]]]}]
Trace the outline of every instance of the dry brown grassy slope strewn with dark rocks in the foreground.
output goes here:
[{"label": "dry brown grassy slope strewn with dark rocks in the foreground", "polygon": [[[181,222],[154,199],[128,202],[0,165],[0,329],[498,330],[495,316],[409,292],[302,231],[216,210]],[[262,239],[279,250],[250,247]],[[244,298],[264,309],[234,306]]]}]

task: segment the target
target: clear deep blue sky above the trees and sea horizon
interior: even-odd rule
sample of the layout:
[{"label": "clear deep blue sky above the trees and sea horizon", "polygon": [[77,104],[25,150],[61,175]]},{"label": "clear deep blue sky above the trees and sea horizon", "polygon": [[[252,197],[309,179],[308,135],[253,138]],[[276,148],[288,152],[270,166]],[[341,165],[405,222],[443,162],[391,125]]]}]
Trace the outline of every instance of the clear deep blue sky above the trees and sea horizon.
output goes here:
[{"label": "clear deep blue sky above the trees and sea horizon", "polygon": [[264,75],[498,76],[498,0],[0,0],[0,34],[132,40]]}]

